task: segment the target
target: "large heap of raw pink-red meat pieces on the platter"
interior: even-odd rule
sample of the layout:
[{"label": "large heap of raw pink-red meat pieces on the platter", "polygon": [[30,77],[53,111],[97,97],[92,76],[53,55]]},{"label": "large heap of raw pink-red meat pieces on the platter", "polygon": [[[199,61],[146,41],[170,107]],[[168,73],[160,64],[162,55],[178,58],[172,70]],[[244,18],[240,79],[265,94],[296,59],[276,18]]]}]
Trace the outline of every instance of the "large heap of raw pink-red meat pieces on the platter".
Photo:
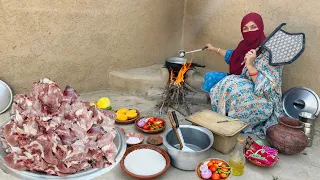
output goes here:
[{"label": "large heap of raw pink-red meat pieces on the platter", "polygon": [[12,168],[65,176],[115,161],[115,114],[81,102],[69,86],[34,83],[30,95],[15,96],[10,116],[0,135]]}]

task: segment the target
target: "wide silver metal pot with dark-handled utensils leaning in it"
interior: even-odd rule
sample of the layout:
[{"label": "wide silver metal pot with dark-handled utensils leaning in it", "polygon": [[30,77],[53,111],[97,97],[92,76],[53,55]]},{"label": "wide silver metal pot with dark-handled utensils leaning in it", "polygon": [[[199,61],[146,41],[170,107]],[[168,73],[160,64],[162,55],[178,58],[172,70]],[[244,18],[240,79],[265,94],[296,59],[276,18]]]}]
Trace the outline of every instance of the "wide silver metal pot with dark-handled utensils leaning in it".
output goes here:
[{"label": "wide silver metal pot with dark-handled utensils leaning in it", "polygon": [[179,126],[186,145],[194,152],[182,151],[178,139],[171,128],[163,136],[163,144],[171,158],[171,165],[187,171],[195,170],[197,164],[210,157],[213,134],[206,128],[192,125]]}]

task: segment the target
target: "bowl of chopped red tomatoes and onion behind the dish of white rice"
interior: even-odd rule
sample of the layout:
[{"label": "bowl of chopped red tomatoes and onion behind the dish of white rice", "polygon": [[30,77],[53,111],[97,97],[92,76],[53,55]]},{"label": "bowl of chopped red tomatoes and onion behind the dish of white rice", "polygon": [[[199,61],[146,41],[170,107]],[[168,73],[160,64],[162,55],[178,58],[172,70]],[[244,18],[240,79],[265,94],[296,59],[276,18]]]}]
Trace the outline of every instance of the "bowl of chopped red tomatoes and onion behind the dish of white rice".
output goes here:
[{"label": "bowl of chopped red tomatoes and onion behind the dish of white rice", "polygon": [[142,117],[135,121],[135,126],[145,133],[159,133],[165,130],[166,121],[159,117]]}]

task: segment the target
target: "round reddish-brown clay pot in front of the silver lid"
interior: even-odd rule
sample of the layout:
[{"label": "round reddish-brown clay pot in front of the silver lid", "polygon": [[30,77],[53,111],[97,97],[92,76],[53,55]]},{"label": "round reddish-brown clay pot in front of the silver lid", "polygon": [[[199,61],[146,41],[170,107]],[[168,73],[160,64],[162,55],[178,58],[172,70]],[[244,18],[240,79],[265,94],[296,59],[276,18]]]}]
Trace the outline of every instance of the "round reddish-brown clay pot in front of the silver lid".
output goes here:
[{"label": "round reddish-brown clay pot in front of the silver lid", "polygon": [[296,154],[308,145],[308,137],[302,131],[303,123],[299,120],[280,117],[279,124],[267,129],[267,140],[270,145],[283,154]]}]

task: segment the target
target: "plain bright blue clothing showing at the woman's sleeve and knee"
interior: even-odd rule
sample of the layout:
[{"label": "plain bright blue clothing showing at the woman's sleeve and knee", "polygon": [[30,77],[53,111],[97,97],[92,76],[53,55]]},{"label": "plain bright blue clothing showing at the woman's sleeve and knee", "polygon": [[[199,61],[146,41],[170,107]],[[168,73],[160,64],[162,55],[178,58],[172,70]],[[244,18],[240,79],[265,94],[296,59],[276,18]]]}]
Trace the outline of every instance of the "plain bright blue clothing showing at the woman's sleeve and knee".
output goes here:
[{"label": "plain bright blue clothing showing at the woman's sleeve and knee", "polygon": [[[226,51],[226,54],[224,56],[224,60],[226,61],[227,64],[230,64],[230,58],[232,55],[233,50],[228,49]],[[221,79],[225,78],[228,75],[228,73],[224,72],[208,72],[204,75],[204,82],[201,86],[201,89],[210,92],[210,89],[216,85]]]}]

